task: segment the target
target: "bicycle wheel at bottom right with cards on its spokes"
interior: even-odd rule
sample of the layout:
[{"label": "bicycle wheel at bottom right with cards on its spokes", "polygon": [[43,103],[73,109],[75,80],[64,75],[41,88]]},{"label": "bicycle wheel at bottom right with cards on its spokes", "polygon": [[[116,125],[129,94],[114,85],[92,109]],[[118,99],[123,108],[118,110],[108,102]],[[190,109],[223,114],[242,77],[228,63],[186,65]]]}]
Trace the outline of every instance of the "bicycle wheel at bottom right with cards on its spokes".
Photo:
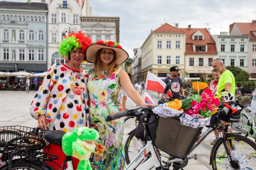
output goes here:
[{"label": "bicycle wheel at bottom right with cards on its spokes", "polygon": [[233,165],[230,164],[221,139],[218,139],[212,147],[210,162],[213,170],[220,169],[255,169],[256,167],[256,144],[238,134],[226,134],[226,145],[232,154]]}]

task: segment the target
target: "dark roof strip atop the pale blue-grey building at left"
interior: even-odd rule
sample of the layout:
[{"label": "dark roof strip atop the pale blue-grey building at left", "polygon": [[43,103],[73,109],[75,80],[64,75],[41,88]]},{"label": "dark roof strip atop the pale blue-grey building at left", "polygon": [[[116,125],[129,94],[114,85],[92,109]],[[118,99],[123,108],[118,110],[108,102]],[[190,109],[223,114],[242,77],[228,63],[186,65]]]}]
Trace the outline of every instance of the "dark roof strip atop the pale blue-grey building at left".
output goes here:
[{"label": "dark roof strip atop the pale blue-grey building at left", "polygon": [[20,9],[20,10],[48,10],[48,4],[38,2],[0,2],[0,8]]}]

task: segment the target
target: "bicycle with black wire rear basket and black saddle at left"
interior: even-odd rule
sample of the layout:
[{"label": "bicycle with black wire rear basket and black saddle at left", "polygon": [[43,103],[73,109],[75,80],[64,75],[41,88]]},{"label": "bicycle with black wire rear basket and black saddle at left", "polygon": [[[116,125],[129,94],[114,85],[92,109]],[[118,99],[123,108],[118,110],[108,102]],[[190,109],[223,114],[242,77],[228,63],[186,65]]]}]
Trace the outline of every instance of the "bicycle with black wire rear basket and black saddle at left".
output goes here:
[{"label": "bicycle with black wire rear basket and black saddle at left", "polygon": [[[46,146],[61,145],[63,131],[47,131],[24,126],[0,127],[0,170],[55,170],[46,162],[58,159]],[[66,156],[59,169],[73,170],[71,156]]]}]

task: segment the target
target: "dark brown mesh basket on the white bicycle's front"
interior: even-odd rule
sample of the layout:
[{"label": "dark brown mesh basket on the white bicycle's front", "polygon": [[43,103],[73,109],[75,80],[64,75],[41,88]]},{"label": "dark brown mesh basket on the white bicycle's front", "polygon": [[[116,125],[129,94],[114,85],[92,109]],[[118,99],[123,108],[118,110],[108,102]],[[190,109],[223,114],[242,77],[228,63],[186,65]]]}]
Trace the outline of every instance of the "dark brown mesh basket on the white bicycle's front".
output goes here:
[{"label": "dark brown mesh basket on the white bicycle's front", "polygon": [[184,158],[190,153],[202,129],[180,124],[180,117],[158,116],[152,144],[172,156]]}]

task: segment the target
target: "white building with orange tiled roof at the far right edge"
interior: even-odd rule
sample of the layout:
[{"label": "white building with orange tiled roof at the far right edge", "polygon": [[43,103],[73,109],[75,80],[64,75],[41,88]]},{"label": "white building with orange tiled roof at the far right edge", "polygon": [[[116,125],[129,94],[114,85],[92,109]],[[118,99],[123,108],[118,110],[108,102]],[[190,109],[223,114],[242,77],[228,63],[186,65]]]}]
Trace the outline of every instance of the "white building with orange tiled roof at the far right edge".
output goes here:
[{"label": "white building with orange tiled roof at the far right edge", "polygon": [[256,20],[253,20],[251,23],[235,22],[229,25],[229,28],[230,35],[249,35],[248,46],[244,46],[244,51],[248,52],[248,73],[250,73],[250,80],[256,80]]}]

